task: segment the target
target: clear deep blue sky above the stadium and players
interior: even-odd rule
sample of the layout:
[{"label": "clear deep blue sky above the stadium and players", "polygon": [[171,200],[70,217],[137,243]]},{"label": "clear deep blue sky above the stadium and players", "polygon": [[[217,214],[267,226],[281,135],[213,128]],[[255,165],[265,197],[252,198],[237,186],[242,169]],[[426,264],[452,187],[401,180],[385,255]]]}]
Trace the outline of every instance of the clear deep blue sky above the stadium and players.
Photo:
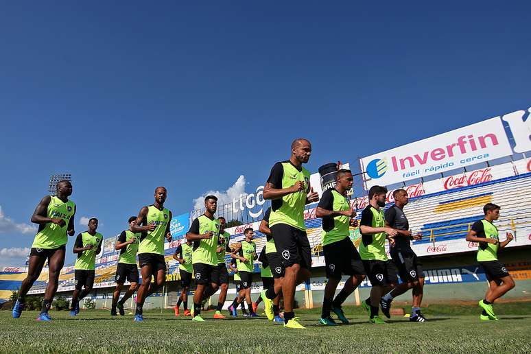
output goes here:
[{"label": "clear deep blue sky above the stadium and players", "polygon": [[[530,106],[529,2],[5,3],[0,266],[20,265],[49,174],[106,237],[152,202],[189,211],[265,182]],[[241,180],[240,180],[241,181]],[[69,248],[73,240],[69,243]],[[68,253],[68,260],[73,256]],[[12,257],[10,257],[12,256]]]}]

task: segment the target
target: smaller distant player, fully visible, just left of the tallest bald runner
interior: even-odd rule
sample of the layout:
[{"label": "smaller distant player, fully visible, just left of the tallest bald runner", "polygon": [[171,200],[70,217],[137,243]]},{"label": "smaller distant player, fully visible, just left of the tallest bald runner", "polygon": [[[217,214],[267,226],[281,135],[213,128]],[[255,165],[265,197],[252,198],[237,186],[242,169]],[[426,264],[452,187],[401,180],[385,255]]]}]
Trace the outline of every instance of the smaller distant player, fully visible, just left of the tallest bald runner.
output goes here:
[{"label": "smaller distant player, fully visible, just left of the tallest bald runner", "polygon": [[247,305],[249,307],[250,317],[258,317],[255,314],[254,309],[252,308],[252,300],[250,296],[250,288],[252,286],[252,272],[255,270],[255,259],[258,259],[257,255],[257,245],[255,241],[252,241],[254,231],[252,228],[246,228],[244,230],[245,239],[241,241],[241,246],[233,250],[231,257],[236,259],[236,264],[238,268],[238,274],[241,278],[241,285],[243,286],[243,296],[238,294],[236,300],[229,307],[229,311],[232,312],[235,316],[235,309],[239,303],[243,302],[244,299],[247,300]]}]

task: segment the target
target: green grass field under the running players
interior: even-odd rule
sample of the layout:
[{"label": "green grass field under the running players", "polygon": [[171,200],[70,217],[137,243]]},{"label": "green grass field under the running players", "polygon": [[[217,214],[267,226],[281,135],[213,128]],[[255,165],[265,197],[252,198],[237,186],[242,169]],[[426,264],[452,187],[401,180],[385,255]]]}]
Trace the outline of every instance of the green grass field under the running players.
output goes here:
[{"label": "green grass field under the running players", "polygon": [[[495,306],[501,320],[482,322],[477,307],[432,305],[429,322],[392,317],[372,325],[357,307],[346,307],[350,325],[320,327],[319,309],[297,311],[306,330],[284,329],[265,318],[213,320],[175,318],[171,310],[110,318],[108,311],[51,311],[54,322],[36,322],[36,311],[13,320],[0,311],[2,353],[529,353],[531,304]],[[226,312],[226,311],[225,311]]]}]

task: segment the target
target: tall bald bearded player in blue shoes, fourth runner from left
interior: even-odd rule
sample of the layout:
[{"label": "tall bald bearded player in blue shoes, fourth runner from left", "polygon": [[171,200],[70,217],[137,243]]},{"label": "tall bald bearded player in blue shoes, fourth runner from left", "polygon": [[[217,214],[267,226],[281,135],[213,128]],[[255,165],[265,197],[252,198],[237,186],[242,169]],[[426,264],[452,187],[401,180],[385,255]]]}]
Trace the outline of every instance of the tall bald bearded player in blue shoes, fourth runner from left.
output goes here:
[{"label": "tall bald bearded player in blue shoes, fourth runner from left", "polygon": [[[147,296],[153,294],[166,281],[166,261],[164,259],[164,239],[172,241],[169,233],[169,221],[172,212],[164,207],[167,198],[165,187],[156,187],[155,201],[139,211],[137,220],[131,226],[133,233],[142,233],[139,244],[139,263],[142,284],[137,292],[137,307],[134,322],[142,322],[143,306]],[[151,282],[152,276],[154,282]]]}]

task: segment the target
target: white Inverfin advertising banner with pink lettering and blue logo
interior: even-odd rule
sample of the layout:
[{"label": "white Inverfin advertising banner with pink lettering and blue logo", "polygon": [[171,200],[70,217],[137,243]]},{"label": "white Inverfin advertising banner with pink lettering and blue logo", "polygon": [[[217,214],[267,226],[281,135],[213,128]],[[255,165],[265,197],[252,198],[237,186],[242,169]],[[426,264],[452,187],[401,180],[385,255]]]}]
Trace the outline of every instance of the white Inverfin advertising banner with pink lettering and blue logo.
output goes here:
[{"label": "white Inverfin advertising banner with pink lettering and blue logo", "polygon": [[[366,187],[392,185],[512,154],[495,117],[361,159]],[[369,179],[370,178],[370,179]]]}]

